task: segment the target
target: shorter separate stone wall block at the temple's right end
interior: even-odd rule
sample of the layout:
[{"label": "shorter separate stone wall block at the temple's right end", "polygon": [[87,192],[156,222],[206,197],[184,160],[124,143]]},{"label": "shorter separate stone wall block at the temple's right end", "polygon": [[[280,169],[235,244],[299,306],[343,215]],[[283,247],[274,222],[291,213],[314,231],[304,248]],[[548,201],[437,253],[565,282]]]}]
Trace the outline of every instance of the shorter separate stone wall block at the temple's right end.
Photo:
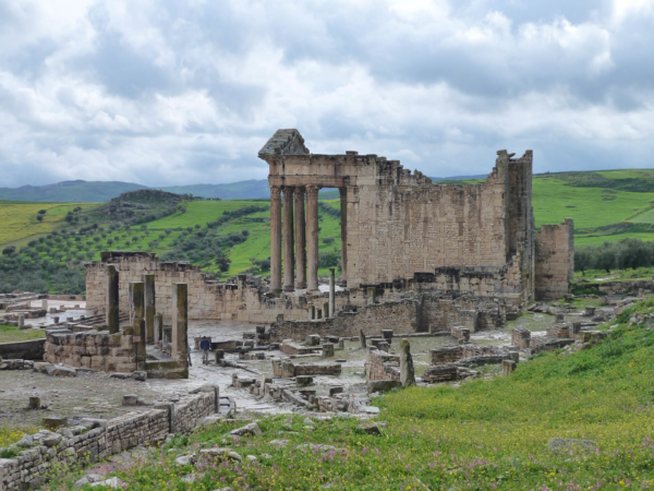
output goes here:
[{"label": "shorter separate stone wall block at the temple's right end", "polygon": [[574,278],[574,223],[543,225],[536,232],[535,298],[556,300],[568,294]]}]

